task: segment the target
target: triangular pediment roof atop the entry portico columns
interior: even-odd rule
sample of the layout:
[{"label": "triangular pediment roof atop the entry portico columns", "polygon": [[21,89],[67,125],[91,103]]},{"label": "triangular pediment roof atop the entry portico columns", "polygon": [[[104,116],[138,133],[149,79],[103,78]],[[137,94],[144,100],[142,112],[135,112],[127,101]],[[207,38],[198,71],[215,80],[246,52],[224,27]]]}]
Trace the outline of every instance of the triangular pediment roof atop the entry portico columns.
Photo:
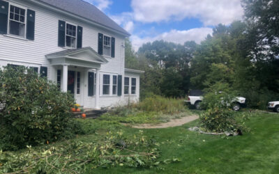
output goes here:
[{"label": "triangular pediment roof atop the entry portico columns", "polygon": [[87,68],[100,67],[101,64],[108,62],[91,47],[67,49],[61,52],[47,54],[45,57],[50,60],[52,65],[68,64]]}]

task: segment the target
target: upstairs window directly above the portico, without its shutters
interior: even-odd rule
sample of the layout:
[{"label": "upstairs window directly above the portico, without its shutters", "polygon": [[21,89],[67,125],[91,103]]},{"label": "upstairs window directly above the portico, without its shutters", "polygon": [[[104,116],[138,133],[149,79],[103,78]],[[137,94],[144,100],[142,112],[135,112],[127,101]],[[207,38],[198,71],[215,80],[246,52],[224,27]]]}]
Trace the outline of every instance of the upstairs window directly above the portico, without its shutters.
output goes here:
[{"label": "upstairs window directly above the portico, without its shutters", "polygon": [[66,47],[77,47],[77,26],[66,24]]}]

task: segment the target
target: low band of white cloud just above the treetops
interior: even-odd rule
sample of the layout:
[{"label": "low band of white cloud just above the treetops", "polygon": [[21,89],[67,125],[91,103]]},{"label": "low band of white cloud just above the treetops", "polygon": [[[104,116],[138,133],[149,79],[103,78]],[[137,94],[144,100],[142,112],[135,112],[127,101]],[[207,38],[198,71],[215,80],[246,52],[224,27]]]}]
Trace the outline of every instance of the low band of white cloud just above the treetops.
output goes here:
[{"label": "low band of white cloud just above the treetops", "polygon": [[162,33],[157,35],[156,37],[146,37],[140,38],[137,35],[131,35],[130,40],[132,41],[133,48],[137,52],[137,50],[142,46],[142,44],[146,42],[153,42],[155,40],[165,40],[168,42],[175,42],[178,44],[184,44],[186,41],[194,40],[197,43],[200,43],[202,40],[206,38],[206,35],[211,34],[211,28],[196,28],[189,30],[171,30],[169,32]]}]

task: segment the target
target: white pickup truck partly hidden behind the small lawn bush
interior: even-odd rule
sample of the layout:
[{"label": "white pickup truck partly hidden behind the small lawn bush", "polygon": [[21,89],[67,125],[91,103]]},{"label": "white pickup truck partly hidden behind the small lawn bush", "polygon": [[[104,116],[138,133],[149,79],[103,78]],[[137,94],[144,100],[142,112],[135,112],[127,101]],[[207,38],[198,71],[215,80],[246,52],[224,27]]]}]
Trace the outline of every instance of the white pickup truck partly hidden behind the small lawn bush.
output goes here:
[{"label": "white pickup truck partly hidden behind the small lawn bush", "polygon": [[[196,109],[201,109],[201,102],[203,93],[201,90],[191,90],[188,96],[188,100],[184,100],[184,102],[194,105]],[[245,106],[246,98],[244,97],[236,97],[232,104],[229,104],[232,106],[232,109],[234,111],[239,111],[241,107]]]}]

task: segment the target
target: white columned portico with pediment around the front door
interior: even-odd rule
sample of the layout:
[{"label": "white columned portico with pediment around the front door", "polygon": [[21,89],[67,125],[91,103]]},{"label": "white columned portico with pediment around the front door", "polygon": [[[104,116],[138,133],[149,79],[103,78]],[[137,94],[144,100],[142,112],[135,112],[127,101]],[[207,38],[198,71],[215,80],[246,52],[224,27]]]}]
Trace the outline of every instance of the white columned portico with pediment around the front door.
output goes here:
[{"label": "white columned portico with pediment around the front door", "polygon": [[84,101],[94,100],[95,108],[100,108],[100,66],[107,63],[103,56],[85,47],[47,54],[46,58],[56,70],[54,81],[63,92],[70,91],[82,106],[86,106]]}]

